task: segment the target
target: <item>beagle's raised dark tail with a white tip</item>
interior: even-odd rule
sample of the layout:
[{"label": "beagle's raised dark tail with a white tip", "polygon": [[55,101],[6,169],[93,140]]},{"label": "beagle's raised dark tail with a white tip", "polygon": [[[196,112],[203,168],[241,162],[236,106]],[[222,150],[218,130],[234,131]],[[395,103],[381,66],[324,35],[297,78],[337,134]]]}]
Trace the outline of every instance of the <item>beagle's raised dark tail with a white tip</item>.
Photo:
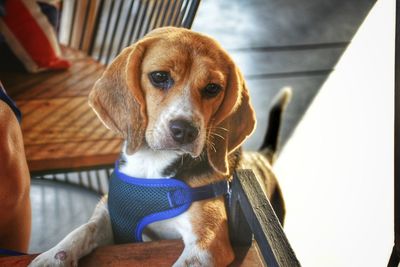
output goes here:
[{"label": "beagle's raised dark tail with a white tip", "polygon": [[275,161],[279,148],[279,133],[282,127],[283,114],[292,98],[292,89],[284,87],[272,102],[269,112],[269,122],[264,142],[260,148],[271,164]]}]

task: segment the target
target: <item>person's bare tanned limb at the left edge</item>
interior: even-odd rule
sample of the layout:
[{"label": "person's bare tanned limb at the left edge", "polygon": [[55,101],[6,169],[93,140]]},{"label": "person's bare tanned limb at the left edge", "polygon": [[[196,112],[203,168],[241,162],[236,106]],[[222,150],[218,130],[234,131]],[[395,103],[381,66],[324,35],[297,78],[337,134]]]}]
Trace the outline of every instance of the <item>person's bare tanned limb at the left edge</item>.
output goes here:
[{"label": "person's bare tanned limb at the left edge", "polygon": [[0,159],[0,248],[27,252],[31,232],[30,176],[20,125],[1,100]]}]

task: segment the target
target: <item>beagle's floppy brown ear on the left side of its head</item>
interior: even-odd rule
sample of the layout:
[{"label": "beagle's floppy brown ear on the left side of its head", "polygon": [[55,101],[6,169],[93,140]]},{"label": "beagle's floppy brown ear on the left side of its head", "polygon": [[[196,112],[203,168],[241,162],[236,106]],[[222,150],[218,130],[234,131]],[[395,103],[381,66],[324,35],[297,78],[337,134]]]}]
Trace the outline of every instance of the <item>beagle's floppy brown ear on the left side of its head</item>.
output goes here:
[{"label": "beagle's floppy brown ear on the left side of its head", "polygon": [[146,40],[125,48],[107,67],[89,94],[89,105],[103,124],[127,140],[127,152],[142,144],[147,125],[140,84]]}]

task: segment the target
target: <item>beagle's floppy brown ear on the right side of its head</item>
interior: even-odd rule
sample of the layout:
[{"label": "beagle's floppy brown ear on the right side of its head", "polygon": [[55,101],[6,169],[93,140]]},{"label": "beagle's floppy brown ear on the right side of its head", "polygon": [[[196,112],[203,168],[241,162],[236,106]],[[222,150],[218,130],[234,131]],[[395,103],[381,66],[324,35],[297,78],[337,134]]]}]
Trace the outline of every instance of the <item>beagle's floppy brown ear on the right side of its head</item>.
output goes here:
[{"label": "beagle's floppy brown ear on the right side of its head", "polygon": [[217,172],[224,175],[229,173],[228,155],[244,142],[255,125],[255,113],[245,81],[232,63],[224,100],[208,133],[212,144],[207,147],[208,159]]}]

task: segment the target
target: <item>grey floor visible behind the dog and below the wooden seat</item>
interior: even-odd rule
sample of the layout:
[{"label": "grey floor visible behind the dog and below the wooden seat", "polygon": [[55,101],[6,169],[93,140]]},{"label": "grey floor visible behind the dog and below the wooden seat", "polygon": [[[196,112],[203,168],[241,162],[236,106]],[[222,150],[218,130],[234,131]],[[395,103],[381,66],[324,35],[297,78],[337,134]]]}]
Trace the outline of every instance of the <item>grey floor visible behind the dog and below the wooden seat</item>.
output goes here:
[{"label": "grey floor visible behind the dog and below the wooden seat", "polygon": [[[246,143],[247,148],[257,149],[261,144],[269,105],[284,86],[293,89],[281,132],[282,144],[288,140],[374,2],[201,2],[193,29],[211,35],[228,50],[242,69],[250,89],[258,128]],[[42,251],[53,245],[91,214],[96,197],[78,191],[68,196],[67,192],[66,187],[33,183],[31,251]],[[61,205],[60,210],[54,209],[57,203]]]}]

